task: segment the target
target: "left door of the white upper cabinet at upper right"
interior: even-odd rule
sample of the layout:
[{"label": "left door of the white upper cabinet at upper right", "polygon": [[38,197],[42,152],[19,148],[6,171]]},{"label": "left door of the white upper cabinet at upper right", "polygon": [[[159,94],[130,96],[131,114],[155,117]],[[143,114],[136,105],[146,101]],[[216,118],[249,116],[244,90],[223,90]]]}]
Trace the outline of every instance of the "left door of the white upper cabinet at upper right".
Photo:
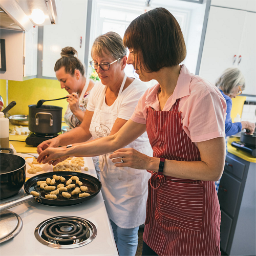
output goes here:
[{"label": "left door of the white upper cabinet at upper right", "polygon": [[246,11],[210,7],[199,75],[215,83],[238,55]]}]

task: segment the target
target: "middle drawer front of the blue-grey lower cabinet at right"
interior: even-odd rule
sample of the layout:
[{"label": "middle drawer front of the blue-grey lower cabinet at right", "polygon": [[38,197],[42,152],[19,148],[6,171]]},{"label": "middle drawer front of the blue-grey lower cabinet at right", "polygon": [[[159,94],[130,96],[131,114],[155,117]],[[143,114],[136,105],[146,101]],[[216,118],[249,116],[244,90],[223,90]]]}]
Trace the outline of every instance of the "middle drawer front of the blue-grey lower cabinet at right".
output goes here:
[{"label": "middle drawer front of the blue-grey lower cabinet at right", "polygon": [[223,173],[218,191],[218,198],[221,209],[223,209],[231,217],[234,217],[240,187],[240,181],[234,179],[225,172]]}]

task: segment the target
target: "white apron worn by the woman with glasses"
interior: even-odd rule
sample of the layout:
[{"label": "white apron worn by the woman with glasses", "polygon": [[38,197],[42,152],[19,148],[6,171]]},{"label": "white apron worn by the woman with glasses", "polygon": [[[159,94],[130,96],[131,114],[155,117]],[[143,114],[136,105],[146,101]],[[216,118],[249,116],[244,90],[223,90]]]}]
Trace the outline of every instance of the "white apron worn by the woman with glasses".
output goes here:
[{"label": "white apron worn by the woman with glasses", "polygon": [[[117,99],[108,107],[102,109],[105,100],[106,89],[102,91],[95,106],[90,125],[90,133],[94,138],[109,136],[121,105],[120,95],[123,91],[126,75],[122,81]],[[105,104],[105,103],[104,103]],[[152,156],[152,148],[147,136],[143,142],[133,141],[126,147]],[[150,174],[146,170],[138,170],[130,167],[115,167],[109,154],[99,156],[100,179],[102,182],[102,194],[109,218],[121,228],[134,228],[145,221],[147,181]]]}]

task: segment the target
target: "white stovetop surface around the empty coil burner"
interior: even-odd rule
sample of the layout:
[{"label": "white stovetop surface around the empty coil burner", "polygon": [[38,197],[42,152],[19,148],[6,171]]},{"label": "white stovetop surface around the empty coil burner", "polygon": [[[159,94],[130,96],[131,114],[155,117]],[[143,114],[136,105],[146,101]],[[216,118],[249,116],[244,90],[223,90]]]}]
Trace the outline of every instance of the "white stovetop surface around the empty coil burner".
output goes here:
[{"label": "white stovetop surface around the empty coil burner", "polygon": [[[88,158],[89,159],[89,158]],[[91,175],[96,177],[93,161],[88,161]],[[1,200],[5,203],[27,194],[24,189],[11,199]],[[10,209],[23,220],[23,228],[17,236],[0,245],[0,254],[4,255],[118,255],[112,228],[106,213],[101,192],[93,199],[81,204],[65,207],[47,206],[28,202]],[[41,222],[59,216],[76,216],[89,220],[97,228],[95,239],[84,246],[72,249],[55,249],[37,241],[35,228]]]}]

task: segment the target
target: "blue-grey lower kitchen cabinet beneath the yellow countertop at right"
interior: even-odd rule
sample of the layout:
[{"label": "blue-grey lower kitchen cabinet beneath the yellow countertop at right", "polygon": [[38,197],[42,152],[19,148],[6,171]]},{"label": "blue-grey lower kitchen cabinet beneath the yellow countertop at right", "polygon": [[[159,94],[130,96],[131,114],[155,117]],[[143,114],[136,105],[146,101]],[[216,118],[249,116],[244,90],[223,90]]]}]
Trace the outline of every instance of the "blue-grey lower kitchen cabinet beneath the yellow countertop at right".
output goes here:
[{"label": "blue-grey lower kitchen cabinet beneath the yellow countertop at right", "polygon": [[221,250],[255,255],[255,163],[228,153],[220,182]]}]

